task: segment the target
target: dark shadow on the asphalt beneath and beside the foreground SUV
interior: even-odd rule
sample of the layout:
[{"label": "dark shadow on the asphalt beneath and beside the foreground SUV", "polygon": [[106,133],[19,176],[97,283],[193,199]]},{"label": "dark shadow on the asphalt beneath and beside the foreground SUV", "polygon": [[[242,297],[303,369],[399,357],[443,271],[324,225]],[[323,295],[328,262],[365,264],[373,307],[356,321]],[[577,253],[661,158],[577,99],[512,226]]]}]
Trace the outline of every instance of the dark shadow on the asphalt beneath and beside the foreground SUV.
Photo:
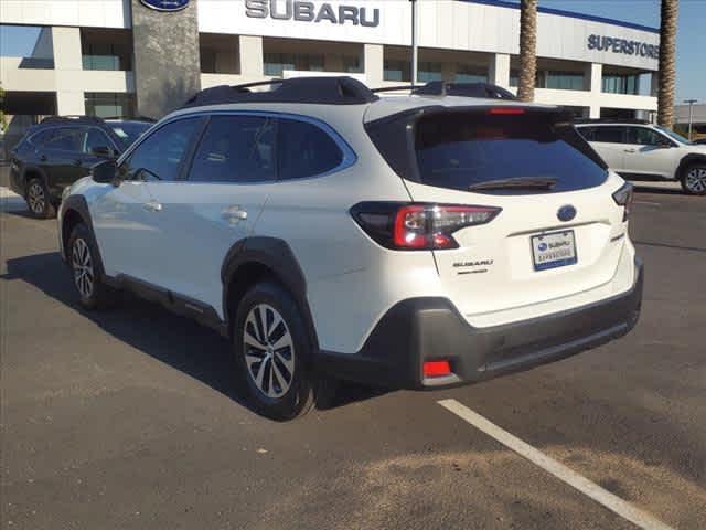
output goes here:
[{"label": "dark shadow on the asphalt beneath and beside the foreground SUV", "polygon": [[[160,305],[120,293],[116,305],[101,312],[85,311],[74,292],[68,271],[56,252],[23,256],[7,262],[6,282],[26,282],[55,300],[76,309],[118,340],[180,370],[255,412],[249,403],[244,374],[228,354],[229,342],[195,321],[171,314]],[[327,382],[331,395],[317,407],[330,410],[387,393],[350,383]]]}]

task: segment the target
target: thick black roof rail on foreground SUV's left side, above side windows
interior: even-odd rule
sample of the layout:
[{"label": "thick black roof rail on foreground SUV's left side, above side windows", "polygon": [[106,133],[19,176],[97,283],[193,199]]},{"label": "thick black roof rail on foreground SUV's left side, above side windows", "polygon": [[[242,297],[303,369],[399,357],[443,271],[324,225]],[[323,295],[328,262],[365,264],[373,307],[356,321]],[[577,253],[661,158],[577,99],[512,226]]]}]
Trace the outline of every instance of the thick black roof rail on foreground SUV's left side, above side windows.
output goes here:
[{"label": "thick black roof rail on foreground SUV's left side, above side windows", "polygon": [[[264,92],[252,87],[268,86]],[[237,86],[214,86],[196,93],[182,108],[228,103],[311,103],[322,105],[362,105],[379,99],[360,81],[349,76],[295,77],[247,83]]]}]

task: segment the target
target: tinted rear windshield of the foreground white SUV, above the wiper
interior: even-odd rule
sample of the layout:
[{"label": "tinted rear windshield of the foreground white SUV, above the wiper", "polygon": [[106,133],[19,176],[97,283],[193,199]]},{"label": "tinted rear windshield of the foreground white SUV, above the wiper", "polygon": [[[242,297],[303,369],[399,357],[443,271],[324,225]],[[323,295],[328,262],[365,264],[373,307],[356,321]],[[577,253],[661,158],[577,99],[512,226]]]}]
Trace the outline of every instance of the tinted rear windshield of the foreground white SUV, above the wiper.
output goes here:
[{"label": "tinted rear windshield of the foreground white SUV, above the wiper", "polygon": [[422,183],[454,190],[541,177],[557,180],[552,191],[568,191],[607,177],[573,126],[555,127],[533,116],[429,116],[417,124],[416,152]]}]

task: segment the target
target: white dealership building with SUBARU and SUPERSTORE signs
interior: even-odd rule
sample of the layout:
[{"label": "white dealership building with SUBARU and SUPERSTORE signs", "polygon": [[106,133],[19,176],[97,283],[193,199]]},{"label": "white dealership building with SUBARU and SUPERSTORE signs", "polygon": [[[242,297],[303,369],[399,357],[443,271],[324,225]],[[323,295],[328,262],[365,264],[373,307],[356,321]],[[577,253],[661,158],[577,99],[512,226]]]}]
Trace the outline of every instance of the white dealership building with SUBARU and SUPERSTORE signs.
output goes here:
[{"label": "white dealership building with SUBARU and SUPERSTORE signs", "polygon": [[[2,0],[0,21],[18,126],[50,114],[159,117],[200,88],[297,75],[411,81],[405,0]],[[419,0],[418,22],[418,82],[516,91],[517,3]],[[649,118],[659,44],[652,28],[539,8],[536,100]]]}]

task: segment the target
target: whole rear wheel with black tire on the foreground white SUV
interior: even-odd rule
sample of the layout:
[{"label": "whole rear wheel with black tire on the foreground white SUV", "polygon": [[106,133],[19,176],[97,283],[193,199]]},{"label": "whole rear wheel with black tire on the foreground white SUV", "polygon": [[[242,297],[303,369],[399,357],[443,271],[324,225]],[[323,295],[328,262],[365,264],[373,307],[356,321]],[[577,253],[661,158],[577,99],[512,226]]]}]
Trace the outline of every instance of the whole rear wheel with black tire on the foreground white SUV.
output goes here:
[{"label": "whole rear wheel with black tire on the foreground white SUV", "polygon": [[289,421],[312,409],[312,347],[287,290],[271,282],[252,287],[240,300],[232,335],[238,365],[261,415]]}]

